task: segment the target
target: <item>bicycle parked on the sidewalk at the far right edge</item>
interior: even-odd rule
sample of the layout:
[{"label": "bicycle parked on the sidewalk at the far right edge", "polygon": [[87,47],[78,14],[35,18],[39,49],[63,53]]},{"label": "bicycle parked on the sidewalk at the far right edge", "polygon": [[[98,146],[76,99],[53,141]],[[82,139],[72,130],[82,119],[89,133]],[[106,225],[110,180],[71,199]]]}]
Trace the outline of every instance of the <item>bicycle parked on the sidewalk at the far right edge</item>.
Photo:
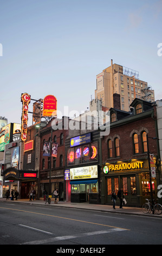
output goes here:
[{"label": "bicycle parked on the sidewalk at the far right edge", "polygon": [[153,199],[153,205],[151,200],[146,199],[146,201],[147,203],[142,205],[142,212],[144,212],[144,214],[150,214],[151,211],[154,211],[154,213],[157,215],[161,214],[162,212],[161,204],[156,204],[154,199]]}]

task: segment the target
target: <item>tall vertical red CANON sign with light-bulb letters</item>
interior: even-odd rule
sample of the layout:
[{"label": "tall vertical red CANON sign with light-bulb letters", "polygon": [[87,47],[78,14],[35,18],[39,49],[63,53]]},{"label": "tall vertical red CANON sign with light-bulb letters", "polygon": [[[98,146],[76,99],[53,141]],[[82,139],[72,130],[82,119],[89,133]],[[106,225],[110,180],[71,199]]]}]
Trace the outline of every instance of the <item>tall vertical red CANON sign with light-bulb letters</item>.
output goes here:
[{"label": "tall vertical red CANON sign with light-bulb letters", "polygon": [[30,103],[30,95],[28,93],[23,93],[21,95],[21,101],[23,103],[22,108],[22,126],[21,126],[21,139],[26,141],[27,139],[27,127],[28,127],[28,105]]}]

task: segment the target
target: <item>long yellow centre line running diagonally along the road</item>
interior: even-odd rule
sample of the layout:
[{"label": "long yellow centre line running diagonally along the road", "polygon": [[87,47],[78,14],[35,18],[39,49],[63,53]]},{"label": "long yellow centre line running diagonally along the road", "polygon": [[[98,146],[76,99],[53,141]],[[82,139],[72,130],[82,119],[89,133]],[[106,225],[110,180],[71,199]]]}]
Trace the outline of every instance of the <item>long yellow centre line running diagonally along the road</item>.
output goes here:
[{"label": "long yellow centre line running diagonally along the road", "polygon": [[[100,223],[94,223],[94,222],[88,222],[88,221],[75,220],[75,219],[73,219],[73,218],[66,218],[66,217],[55,216],[55,215],[49,215],[49,214],[40,214],[39,212],[33,212],[33,211],[24,211],[24,210],[18,210],[18,209],[12,209],[12,208],[5,208],[5,207],[0,207],[0,209],[8,209],[8,210],[13,210],[13,211],[28,212],[29,214],[38,214],[38,215],[45,215],[45,216],[49,216],[49,217],[55,217],[55,218],[63,218],[64,220],[78,221],[78,222],[84,222],[84,223],[88,223],[88,224],[101,225],[101,226],[105,226],[105,227],[109,227],[109,228],[119,228],[119,227],[114,227],[114,226],[111,226],[111,225],[105,225],[105,224],[100,224]],[[130,229],[126,229],[126,228],[120,228],[120,229],[130,230]]]}]

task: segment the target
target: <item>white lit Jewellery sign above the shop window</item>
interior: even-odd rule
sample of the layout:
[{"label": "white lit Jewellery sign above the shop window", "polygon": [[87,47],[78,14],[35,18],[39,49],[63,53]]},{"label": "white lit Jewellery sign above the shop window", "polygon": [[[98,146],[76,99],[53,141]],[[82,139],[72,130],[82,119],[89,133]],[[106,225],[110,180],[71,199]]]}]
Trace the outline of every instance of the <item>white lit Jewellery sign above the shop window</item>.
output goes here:
[{"label": "white lit Jewellery sign above the shop window", "polygon": [[70,169],[70,180],[98,178],[98,166],[76,167]]}]

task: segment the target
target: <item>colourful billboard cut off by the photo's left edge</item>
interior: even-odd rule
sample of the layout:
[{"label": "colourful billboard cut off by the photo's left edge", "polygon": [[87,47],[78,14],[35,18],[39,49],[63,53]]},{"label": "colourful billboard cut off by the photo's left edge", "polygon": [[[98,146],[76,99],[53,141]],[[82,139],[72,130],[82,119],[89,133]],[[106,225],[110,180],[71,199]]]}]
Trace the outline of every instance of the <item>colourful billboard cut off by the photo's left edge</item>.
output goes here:
[{"label": "colourful billboard cut off by the photo's left edge", "polygon": [[10,142],[11,124],[0,129],[0,151],[4,151],[5,145]]}]

